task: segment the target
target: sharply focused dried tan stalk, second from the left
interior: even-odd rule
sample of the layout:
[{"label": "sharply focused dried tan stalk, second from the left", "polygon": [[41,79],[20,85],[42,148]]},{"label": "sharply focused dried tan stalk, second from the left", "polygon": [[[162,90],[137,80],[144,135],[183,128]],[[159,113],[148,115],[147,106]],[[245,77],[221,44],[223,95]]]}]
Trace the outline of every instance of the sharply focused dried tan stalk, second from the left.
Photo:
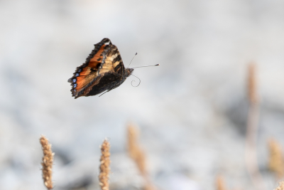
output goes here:
[{"label": "sharply focused dried tan stalk, second from the left", "polygon": [[101,165],[99,166],[99,186],[101,186],[102,190],[109,190],[109,166],[111,164],[109,148],[110,144],[105,139],[101,147],[102,156],[100,159]]}]

